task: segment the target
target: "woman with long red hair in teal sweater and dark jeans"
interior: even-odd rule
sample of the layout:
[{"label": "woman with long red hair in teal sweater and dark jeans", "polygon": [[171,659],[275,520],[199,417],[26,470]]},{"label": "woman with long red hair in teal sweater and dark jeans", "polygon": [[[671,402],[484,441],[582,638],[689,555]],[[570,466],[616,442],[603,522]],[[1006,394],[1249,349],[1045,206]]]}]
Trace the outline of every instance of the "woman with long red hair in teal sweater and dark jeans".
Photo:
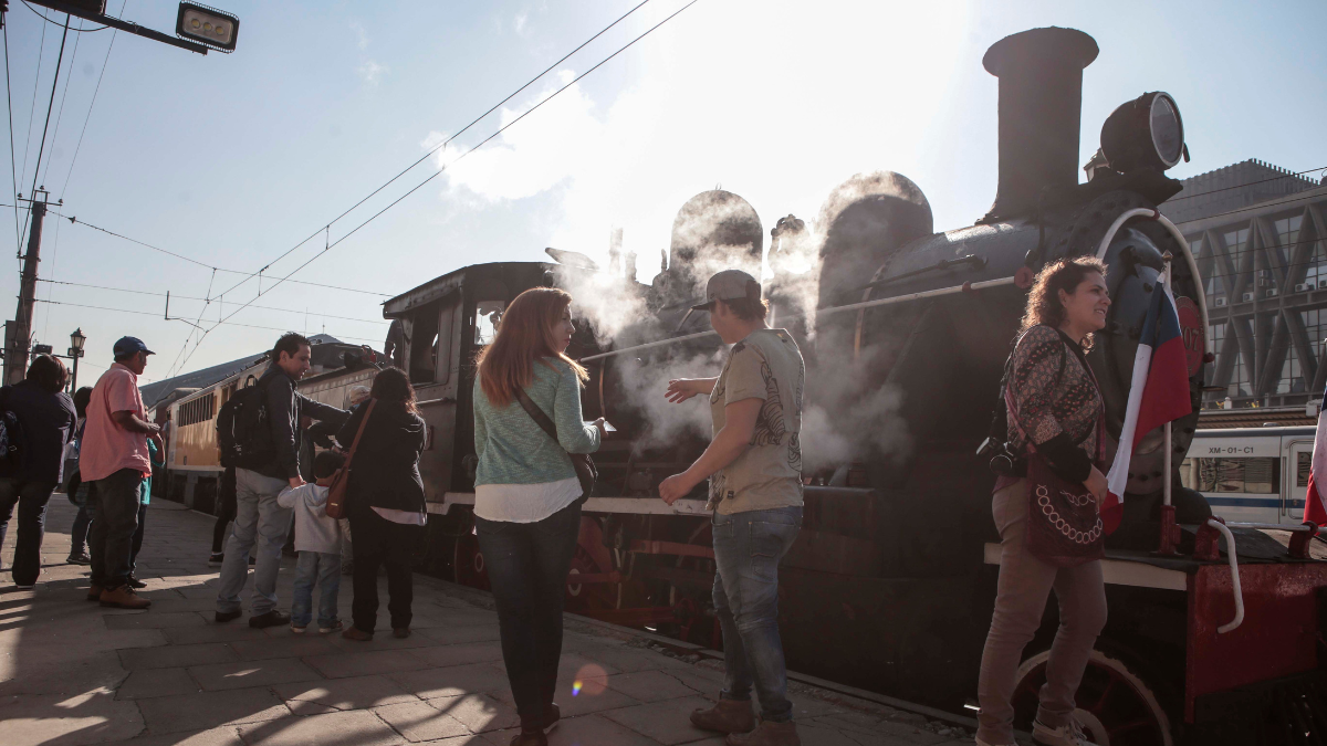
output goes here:
[{"label": "woman with long red hair in teal sweater and dark jeans", "polygon": [[[571,301],[556,288],[516,296],[492,344],[480,350],[475,377],[475,531],[520,714],[512,746],[548,743],[544,730],[560,717],[553,693],[563,597],[583,496],[568,454],[598,450],[604,431],[602,418],[593,425],[581,419],[580,388],[588,376],[567,357],[576,331]],[[553,421],[556,439],[522,406],[522,392]]]}]

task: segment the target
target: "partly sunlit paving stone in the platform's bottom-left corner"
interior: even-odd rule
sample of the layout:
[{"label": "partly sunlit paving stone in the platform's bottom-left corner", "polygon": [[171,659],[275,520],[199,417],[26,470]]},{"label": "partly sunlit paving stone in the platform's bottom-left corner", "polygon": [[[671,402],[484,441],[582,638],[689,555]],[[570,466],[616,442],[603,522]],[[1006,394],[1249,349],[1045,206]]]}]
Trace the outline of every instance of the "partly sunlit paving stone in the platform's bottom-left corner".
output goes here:
[{"label": "partly sunlit paving stone in the platform's bottom-left corner", "polygon": [[142,730],[134,702],[115,701],[109,689],[0,700],[0,743],[5,746],[82,746],[122,741]]}]

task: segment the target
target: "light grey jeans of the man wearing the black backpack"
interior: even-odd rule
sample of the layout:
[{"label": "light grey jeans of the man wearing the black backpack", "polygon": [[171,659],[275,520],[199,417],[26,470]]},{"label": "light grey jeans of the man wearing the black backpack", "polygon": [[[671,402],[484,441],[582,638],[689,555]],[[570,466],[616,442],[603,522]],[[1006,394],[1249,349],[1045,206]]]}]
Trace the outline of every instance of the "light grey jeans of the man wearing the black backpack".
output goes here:
[{"label": "light grey jeans of the man wearing the black backpack", "polygon": [[248,555],[257,543],[253,561],[253,600],[249,616],[276,608],[276,573],[281,569],[281,546],[291,526],[291,508],[276,504],[276,495],[289,482],[263,477],[248,469],[235,470],[235,530],[226,540],[226,560],[216,588],[216,611],[240,611],[240,591],[248,579]]}]

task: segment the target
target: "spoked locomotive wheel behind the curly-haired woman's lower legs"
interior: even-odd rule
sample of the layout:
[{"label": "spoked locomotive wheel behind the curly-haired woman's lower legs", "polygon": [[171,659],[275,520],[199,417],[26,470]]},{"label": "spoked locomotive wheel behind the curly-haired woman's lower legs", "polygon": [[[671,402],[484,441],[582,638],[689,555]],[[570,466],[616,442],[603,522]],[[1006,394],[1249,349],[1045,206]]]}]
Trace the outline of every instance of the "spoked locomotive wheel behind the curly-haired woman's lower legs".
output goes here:
[{"label": "spoked locomotive wheel behind the curly-haired woman's lower legs", "polygon": [[[1014,727],[1032,730],[1038,693],[1046,684],[1043,650],[1018,668],[1014,690]],[[1136,669],[1119,657],[1092,650],[1083,684],[1075,697],[1079,709],[1074,717],[1083,723],[1087,739],[1099,746],[1173,746],[1170,719],[1161,708],[1154,689]]]}]

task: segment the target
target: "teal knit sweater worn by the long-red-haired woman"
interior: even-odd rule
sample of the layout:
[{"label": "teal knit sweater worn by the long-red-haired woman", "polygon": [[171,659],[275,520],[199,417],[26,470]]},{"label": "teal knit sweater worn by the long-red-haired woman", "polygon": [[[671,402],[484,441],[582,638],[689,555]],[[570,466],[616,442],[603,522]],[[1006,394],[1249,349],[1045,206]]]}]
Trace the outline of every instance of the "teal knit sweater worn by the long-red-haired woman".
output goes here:
[{"label": "teal knit sweater worn by the long-red-haired woman", "polygon": [[540,485],[575,479],[571,453],[598,450],[598,427],[581,419],[580,381],[571,365],[561,360],[535,362],[533,380],[525,393],[557,426],[555,443],[519,401],[494,406],[475,377],[475,453],[479,485]]}]

